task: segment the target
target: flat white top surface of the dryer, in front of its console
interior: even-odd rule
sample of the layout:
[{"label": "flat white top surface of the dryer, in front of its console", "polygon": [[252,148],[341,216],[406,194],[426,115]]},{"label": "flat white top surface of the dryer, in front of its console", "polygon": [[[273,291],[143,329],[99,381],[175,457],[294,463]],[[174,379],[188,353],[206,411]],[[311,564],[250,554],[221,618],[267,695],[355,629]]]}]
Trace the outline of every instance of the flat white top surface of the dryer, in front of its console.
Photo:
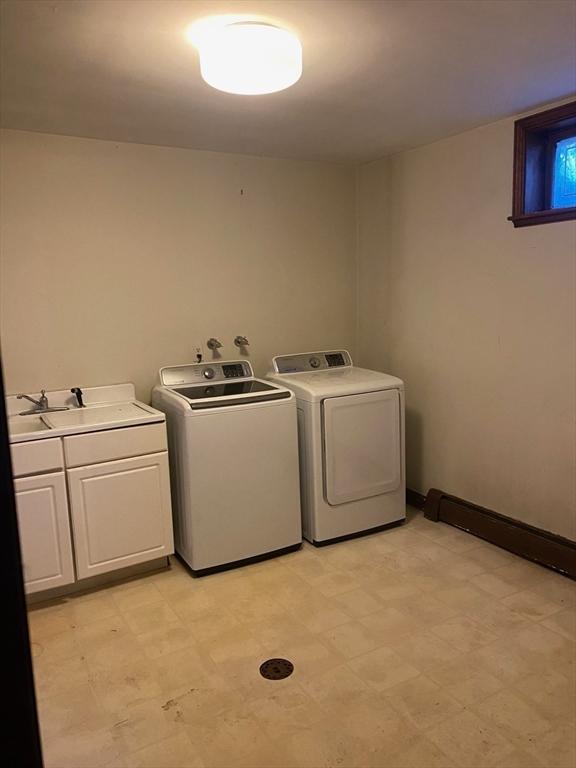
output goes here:
[{"label": "flat white top surface of the dryer, in front of its console", "polygon": [[367,368],[344,366],[312,373],[274,373],[273,381],[291,389],[299,400],[319,402],[327,397],[343,397],[382,389],[403,389],[404,382],[387,373]]}]

